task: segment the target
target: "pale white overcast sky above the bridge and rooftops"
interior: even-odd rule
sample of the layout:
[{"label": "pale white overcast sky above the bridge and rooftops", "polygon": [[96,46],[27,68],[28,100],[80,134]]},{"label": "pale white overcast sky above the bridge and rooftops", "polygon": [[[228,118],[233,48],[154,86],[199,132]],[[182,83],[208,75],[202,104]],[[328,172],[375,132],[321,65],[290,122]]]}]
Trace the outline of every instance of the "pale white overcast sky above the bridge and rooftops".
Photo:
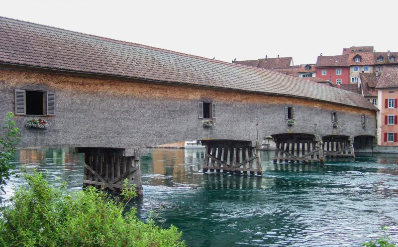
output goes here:
[{"label": "pale white overcast sky above the bridge and rooftops", "polygon": [[[398,51],[398,1],[3,0],[0,15],[231,62]],[[391,14],[390,14],[391,13]]]}]

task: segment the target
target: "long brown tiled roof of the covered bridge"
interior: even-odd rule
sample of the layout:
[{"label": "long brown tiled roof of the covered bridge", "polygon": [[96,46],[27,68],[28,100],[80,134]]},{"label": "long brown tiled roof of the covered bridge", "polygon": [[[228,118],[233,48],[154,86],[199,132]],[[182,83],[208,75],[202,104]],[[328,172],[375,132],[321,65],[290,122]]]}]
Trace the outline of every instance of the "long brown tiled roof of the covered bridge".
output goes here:
[{"label": "long brown tiled roof of the covered bridge", "polygon": [[281,73],[0,17],[0,63],[307,98],[377,111],[361,95]]}]

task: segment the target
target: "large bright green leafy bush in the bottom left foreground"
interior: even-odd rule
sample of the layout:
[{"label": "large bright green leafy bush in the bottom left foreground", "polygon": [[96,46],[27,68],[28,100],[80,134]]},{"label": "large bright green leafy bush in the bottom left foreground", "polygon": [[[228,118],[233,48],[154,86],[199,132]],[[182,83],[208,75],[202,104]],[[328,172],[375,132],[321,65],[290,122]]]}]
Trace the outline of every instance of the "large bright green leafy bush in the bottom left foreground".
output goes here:
[{"label": "large bright green leafy bush in the bottom left foreground", "polygon": [[15,188],[0,208],[0,246],[185,247],[176,227],[143,223],[135,209],[123,214],[123,202],[136,196],[133,186],[125,186],[124,199],[116,202],[94,187],[74,192],[67,192],[65,184],[56,188],[41,172],[24,176],[28,186]]}]

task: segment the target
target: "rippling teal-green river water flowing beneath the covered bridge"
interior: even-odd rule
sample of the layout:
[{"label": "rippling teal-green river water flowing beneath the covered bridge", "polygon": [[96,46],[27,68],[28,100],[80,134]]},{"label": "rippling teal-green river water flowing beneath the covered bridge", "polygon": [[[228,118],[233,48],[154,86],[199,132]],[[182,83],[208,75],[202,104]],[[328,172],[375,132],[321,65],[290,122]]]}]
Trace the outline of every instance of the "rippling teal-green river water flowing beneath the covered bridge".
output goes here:
[{"label": "rippling teal-green river water flowing beneath the covered bridge", "polygon": [[[82,190],[83,156],[72,148],[19,150],[21,164]],[[398,242],[398,155],[273,164],[260,151],[263,176],[203,174],[202,149],[148,149],[141,159],[144,196],[131,204],[162,227],[175,225],[192,247],[361,246],[388,226]],[[24,183],[13,177],[5,187]]]}]

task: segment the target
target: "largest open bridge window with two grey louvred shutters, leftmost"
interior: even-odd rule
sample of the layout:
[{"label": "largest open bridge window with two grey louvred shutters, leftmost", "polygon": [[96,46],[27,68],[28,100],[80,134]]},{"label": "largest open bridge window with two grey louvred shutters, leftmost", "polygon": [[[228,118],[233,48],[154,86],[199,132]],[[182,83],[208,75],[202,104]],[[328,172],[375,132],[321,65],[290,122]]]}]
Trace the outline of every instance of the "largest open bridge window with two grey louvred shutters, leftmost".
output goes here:
[{"label": "largest open bridge window with two grey louvred shutters, leftmost", "polygon": [[55,116],[55,93],[15,89],[15,115]]}]

